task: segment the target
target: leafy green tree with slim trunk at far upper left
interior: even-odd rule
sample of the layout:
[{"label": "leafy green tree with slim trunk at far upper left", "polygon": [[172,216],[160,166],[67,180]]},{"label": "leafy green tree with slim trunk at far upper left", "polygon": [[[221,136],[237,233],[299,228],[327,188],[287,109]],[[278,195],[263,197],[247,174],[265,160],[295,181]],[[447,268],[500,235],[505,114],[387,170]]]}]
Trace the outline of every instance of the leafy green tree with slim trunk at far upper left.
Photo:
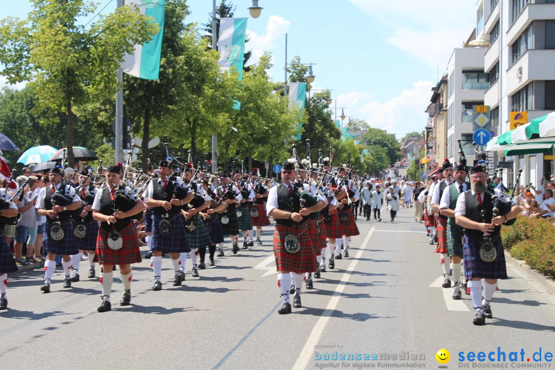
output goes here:
[{"label": "leafy green tree with slim trunk at far upper left", "polygon": [[159,28],[138,9],[120,7],[86,27],[80,17],[94,13],[85,0],[31,0],[25,20],[0,22],[0,72],[8,83],[28,81],[34,89],[43,122],[67,116],[66,146],[74,164],[75,116],[91,89],[105,95],[117,91],[116,70],[134,44],[147,42]]}]

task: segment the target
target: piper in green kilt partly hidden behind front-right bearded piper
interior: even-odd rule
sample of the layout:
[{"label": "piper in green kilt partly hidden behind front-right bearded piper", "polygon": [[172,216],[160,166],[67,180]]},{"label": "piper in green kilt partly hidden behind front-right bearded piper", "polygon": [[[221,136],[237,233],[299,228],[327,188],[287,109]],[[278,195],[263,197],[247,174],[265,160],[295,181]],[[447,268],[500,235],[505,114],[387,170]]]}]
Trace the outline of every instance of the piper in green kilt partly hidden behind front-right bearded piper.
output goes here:
[{"label": "piper in green kilt partly hidden behind front-right bearded piper", "polygon": [[[447,221],[447,255],[451,259],[451,281],[453,282],[453,300],[461,299],[461,260],[462,260],[462,238],[463,229],[455,222],[455,206],[459,194],[470,189],[466,183],[466,160],[455,167],[455,183],[443,190],[440,201],[440,212],[449,217]],[[463,288],[466,290],[465,285]]]}]

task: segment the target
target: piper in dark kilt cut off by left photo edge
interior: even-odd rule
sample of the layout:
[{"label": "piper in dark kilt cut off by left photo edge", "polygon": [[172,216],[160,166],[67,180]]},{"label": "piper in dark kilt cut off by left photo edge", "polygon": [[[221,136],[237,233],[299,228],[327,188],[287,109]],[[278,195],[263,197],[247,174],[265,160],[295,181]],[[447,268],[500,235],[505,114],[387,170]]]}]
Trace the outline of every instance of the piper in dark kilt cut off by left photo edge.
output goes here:
[{"label": "piper in dark kilt cut off by left photo edge", "polygon": [[[2,164],[4,165],[3,161]],[[17,213],[16,204],[6,201],[6,189],[0,190],[0,310],[8,309],[6,293],[8,273],[18,271],[16,260],[13,259],[12,250],[6,241],[6,234],[4,232],[8,219],[17,217]]]}]

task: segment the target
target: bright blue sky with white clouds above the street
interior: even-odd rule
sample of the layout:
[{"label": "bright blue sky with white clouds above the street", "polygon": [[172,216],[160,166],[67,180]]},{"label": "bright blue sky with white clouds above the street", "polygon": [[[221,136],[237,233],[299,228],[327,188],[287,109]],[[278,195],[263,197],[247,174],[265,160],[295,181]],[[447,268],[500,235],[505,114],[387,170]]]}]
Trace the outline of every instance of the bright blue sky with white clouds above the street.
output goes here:
[{"label": "bright blue sky with white clouds above the street", "polygon": [[[98,9],[109,3],[105,13],[116,1],[99,3]],[[187,21],[208,22],[211,3],[188,0]],[[235,17],[249,17],[250,0],[232,3]],[[397,138],[423,130],[431,88],[476,23],[476,0],[259,0],[259,6],[261,16],[247,26],[250,62],[270,52],[270,74],[283,81],[287,33],[287,59],[315,63],[313,89],[331,89],[332,106]],[[0,18],[25,18],[30,9],[18,0],[2,7]]]}]

